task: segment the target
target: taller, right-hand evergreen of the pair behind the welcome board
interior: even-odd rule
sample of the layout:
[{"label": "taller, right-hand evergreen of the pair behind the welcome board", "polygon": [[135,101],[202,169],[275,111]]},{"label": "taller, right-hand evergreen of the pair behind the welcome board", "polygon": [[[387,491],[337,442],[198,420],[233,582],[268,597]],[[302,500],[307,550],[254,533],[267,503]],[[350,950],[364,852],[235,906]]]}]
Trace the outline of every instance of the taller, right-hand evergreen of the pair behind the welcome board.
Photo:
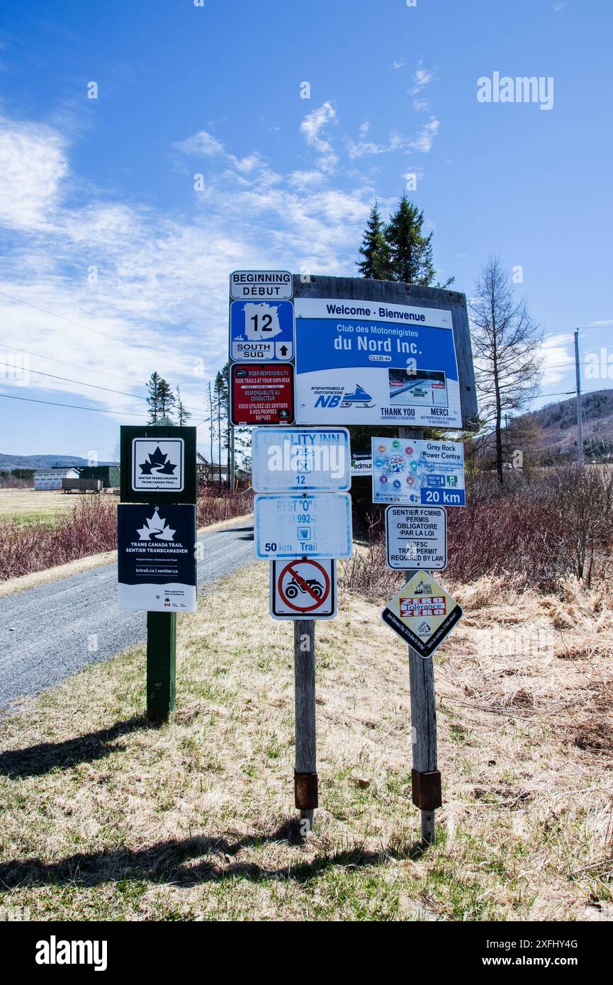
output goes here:
[{"label": "taller, right-hand evergreen of the pair behind the welcome board", "polygon": [[[400,204],[385,227],[391,254],[391,280],[428,287],[436,270],[432,261],[432,237],[424,235],[424,213],[403,193]],[[449,283],[449,282],[447,282]]]}]

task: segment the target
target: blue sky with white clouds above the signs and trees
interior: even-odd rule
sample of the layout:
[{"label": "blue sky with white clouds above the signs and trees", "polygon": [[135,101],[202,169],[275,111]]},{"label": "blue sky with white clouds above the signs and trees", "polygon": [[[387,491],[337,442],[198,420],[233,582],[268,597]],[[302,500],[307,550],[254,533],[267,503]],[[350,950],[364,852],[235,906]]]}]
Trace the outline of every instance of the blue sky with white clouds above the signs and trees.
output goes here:
[{"label": "blue sky with white clouds above the signs and trees", "polygon": [[[574,389],[578,325],[583,354],[604,349],[585,388],[613,385],[611,10],[3,0],[0,452],[112,458],[153,369],[198,424],[228,274],[352,276],[375,197],[392,208],[409,174],[441,279],[470,296],[489,253],[521,268],[543,394]],[[495,72],[553,78],[552,108],[478,101]]]}]

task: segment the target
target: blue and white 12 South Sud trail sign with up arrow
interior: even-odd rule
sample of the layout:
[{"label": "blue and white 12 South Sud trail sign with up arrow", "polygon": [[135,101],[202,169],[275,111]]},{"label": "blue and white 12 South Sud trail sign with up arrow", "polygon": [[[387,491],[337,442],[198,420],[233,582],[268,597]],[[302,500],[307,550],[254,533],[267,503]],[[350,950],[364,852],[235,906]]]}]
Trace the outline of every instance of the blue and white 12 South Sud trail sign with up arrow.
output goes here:
[{"label": "blue and white 12 South Sud trail sign with up arrow", "polygon": [[288,362],[294,359],[292,301],[233,301],[230,355],[235,362]]}]

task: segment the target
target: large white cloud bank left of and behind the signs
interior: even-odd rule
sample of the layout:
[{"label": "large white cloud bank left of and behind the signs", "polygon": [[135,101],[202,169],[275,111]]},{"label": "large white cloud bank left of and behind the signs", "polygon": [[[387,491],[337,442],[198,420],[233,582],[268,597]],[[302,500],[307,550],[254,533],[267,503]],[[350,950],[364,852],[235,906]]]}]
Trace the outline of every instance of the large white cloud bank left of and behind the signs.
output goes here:
[{"label": "large white cloud bank left of and behind the signs", "polygon": [[[335,119],[334,107],[324,103],[303,121],[319,158],[332,153],[323,134]],[[315,169],[279,174],[257,152],[235,156],[203,133],[175,146],[210,150],[205,190],[192,191],[186,175],[187,213],[165,214],[107,196],[67,204],[63,183],[81,194],[85,185],[70,171],[61,133],[5,121],[2,160],[11,193],[5,184],[0,212],[11,238],[0,292],[37,307],[0,295],[2,341],[44,357],[33,358],[33,369],[135,394],[159,369],[172,386],[180,383],[186,404],[203,407],[205,381],[226,360],[231,270],[270,265],[354,274],[374,197],[368,183],[358,177],[351,189],[330,187],[319,158]],[[91,284],[94,269],[98,281]],[[117,375],[123,384],[113,383]],[[145,407],[129,396],[34,374],[32,385],[44,399],[69,393],[79,397],[75,403],[87,398],[109,410],[140,414]]]}]

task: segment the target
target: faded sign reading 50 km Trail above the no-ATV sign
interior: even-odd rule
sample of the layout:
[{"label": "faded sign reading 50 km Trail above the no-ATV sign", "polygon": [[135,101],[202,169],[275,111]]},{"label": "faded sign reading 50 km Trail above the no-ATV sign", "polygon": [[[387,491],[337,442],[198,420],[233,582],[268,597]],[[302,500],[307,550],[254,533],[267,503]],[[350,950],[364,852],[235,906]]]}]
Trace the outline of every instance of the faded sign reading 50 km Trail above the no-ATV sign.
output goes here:
[{"label": "faded sign reading 50 km Trail above the no-ATV sign", "polygon": [[351,558],[349,493],[261,493],[253,513],[259,560]]}]

